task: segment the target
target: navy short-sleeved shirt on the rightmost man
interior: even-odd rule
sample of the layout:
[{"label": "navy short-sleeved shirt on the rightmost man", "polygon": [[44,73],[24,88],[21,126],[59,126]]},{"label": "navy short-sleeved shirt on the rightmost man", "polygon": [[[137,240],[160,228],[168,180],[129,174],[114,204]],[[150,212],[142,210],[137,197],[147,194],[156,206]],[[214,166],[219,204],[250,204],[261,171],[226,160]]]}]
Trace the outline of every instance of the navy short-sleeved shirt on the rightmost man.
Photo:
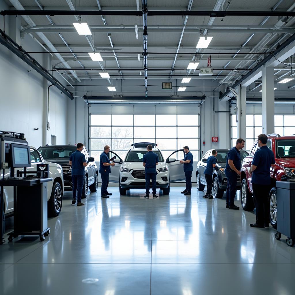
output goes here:
[{"label": "navy short-sleeved shirt on the rightmost man", "polygon": [[252,160],[252,165],[257,166],[257,168],[252,173],[251,183],[270,185],[271,164],[275,164],[273,152],[266,145],[263,145],[255,152]]}]

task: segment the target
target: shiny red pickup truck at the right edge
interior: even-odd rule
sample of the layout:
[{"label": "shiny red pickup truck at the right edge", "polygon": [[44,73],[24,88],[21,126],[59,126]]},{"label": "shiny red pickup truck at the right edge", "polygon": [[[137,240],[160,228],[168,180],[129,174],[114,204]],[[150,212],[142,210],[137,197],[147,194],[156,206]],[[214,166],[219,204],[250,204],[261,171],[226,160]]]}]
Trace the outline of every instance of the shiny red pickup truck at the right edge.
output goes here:
[{"label": "shiny red pickup truck at the right edge", "polygon": [[[276,161],[275,167],[270,168],[272,188],[268,197],[269,219],[271,225],[276,228],[276,181],[280,181],[282,176],[295,179],[295,136],[269,134],[267,146],[273,151]],[[247,168],[251,166],[257,149],[256,141],[250,154],[244,158],[241,168],[241,203],[242,208],[246,211],[252,211],[255,208],[251,183],[252,175],[249,174]]]}]

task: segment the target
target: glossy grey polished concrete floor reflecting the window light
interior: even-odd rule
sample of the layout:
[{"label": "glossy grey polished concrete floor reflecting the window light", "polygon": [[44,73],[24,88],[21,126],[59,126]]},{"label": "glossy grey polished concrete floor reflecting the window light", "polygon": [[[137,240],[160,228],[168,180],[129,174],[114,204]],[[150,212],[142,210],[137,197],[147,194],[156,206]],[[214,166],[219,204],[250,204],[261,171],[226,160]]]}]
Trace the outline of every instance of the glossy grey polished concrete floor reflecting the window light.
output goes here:
[{"label": "glossy grey polished concrete floor reflecting the window light", "polygon": [[120,196],[109,187],[109,199],[89,192],[84,207],[71,206],[65,192],[44,242],[0,245],[0,294],[295,293],[295,248],[286,237],[250,228],[255,212],[226,209],[225,195],[209,200],[196,187],[191,196],[181,189],[144,199],[144,190]]}]

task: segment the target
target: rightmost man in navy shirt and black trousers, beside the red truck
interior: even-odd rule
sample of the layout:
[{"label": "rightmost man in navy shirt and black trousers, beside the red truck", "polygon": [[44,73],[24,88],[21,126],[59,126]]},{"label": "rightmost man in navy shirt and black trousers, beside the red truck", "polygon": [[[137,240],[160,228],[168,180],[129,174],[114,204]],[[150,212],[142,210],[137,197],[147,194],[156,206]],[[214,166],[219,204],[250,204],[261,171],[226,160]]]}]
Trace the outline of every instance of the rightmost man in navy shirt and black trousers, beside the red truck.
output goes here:
[{"label": "rightmost man in navy shirt and black trousers, beside the red truck", "polygon": [[256,222],[250,227],[269,227],[268,195],[271,190],[270,168],[275,166],[273,152],[267,147],[267,135],[258,135],[258,148],[254,154],[249,173],[252,173],[253,199],[256,208]]}]

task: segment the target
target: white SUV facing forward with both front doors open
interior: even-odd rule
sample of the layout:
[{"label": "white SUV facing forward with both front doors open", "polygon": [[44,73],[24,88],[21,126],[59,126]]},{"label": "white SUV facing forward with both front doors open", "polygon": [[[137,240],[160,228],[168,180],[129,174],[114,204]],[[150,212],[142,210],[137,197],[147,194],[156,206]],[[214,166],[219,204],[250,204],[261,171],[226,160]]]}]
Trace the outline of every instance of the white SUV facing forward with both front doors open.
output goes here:
[{"label": "white SUV facing forward with both front doors open", "polygon": [[[174,151],[166,160],[164,160],[161,151],[156,148],[155,143],[139,142],[132,144],[132,148],[128,150],[125,160],[123,161],[116,153],[110,151],[109,158],[115,163],[111,167],[109,182],[119,183],[119,191],[121,195],[126,195],[129,189],[145,189],[145,168],[142,165],[143,155],[148,152],[147,146],[152,145],[153,152],[158,155],[159,164],[157,169],[157,189],[163,190],[163,194],[170,192],[170,182],[185,180],[183,165],[180,160],[184,159],[184,150]],[[175,157],[175,158],[173,158]],[[150,183],[152,187],[152,183]]]}]

